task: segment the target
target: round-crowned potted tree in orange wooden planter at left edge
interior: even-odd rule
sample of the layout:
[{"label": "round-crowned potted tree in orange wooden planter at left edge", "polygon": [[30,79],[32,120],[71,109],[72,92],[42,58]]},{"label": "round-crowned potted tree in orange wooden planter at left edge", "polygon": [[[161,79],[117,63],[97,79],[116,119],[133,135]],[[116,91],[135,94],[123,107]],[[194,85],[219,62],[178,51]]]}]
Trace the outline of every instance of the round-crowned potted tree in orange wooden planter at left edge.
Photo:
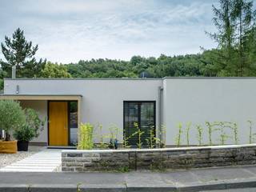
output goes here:
[{"label": "round-crowned potted tree in orange wooden planter at left edge", "polygon": [[17,153],[17,141],[10,141],[10,133],[20,128],[26,121],[24,110],[19,102],[0,100],[0,128],[3,131],[0,140],[0,153]]}]

